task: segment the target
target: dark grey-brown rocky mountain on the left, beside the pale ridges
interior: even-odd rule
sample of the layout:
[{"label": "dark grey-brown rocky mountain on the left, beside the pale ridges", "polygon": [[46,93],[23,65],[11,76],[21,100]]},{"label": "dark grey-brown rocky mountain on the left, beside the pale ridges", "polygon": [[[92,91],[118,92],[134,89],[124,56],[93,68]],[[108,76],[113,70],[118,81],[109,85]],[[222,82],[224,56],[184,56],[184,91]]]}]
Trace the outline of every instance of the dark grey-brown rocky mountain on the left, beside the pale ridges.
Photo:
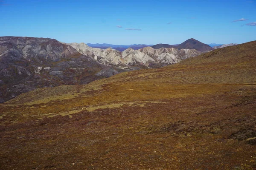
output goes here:
[{"label": "dark grey-brown rocky mountain on the left, beside the pale ridges", "polygon": [[35,88],[87,84],[116,73],[55,39],[0,37],[0,102]]}]

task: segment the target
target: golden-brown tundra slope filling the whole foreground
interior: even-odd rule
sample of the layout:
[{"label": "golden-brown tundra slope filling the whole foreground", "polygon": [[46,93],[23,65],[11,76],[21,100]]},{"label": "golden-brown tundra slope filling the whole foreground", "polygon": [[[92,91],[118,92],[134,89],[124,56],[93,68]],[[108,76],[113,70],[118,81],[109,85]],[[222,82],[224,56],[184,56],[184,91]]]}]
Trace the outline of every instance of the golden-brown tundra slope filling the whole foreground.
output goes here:
[{"label": "golden-brown tundra slope filling the whole foreground", "polygon": [[253,41],[21,94],[0,104],[0,169],[253,170],[255,65]]}]

